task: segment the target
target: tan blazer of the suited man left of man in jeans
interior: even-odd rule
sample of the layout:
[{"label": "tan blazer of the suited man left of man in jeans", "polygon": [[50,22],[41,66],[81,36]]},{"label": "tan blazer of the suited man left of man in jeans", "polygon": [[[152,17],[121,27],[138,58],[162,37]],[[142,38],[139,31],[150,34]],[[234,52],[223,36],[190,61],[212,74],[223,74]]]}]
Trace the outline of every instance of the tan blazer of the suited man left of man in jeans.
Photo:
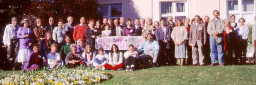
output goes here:
[{"label": "tan blazer of the suited man left of man in jeans", "polygon": [[196,45],[196,35],[199,37],[199,40],[201,40],[202,44],[203,43],[206,43],[206,30],[205,30],[205,25],[204,23],[199,23],[199,26],[198,26],[200,29],[199,30],[199,33],[197,34],[196,32],[196,29],[197,29],[197,26],[196,26],[196,23],[191,25],[191,28],[189,30],[189,43],[193,44],[193,46]]}]

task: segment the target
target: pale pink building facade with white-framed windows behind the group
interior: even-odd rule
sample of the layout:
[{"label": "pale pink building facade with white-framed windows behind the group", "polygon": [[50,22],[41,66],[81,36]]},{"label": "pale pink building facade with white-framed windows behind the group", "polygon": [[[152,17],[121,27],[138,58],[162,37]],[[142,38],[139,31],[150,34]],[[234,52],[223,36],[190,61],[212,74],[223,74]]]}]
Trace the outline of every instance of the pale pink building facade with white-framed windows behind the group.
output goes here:
[{"label": "pale pink building facade with white-framed windows behind the group", "polygon": [[245,18],[246,23],[254,21],[255,0],[99,0],[99,10],[107,18],[160,18],[172,16],[177,18],[193,18],[194,15],[213,18],[213,10],[219,10],[220,18],[230,15]]}]

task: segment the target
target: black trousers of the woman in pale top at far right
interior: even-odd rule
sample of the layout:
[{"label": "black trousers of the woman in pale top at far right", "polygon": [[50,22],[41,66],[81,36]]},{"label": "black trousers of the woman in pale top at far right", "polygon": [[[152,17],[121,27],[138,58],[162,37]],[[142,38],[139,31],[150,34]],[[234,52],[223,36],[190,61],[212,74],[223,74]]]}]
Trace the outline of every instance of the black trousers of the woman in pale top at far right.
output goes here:
[{"label": "black trousers of the woman in pale top at far right", "polygon": [[[247,40],[237,41],[235,49],[235,63],[246,64]],[[239,60],[238,60],[239,59]]]}]

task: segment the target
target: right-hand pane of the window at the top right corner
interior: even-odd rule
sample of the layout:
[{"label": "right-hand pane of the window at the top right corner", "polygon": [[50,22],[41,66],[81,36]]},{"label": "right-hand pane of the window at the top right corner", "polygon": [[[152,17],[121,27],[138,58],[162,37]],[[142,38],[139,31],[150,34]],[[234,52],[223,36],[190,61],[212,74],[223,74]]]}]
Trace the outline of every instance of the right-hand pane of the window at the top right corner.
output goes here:
[{"label": "right-hand pane of the window at the top right corner", "polygon": [[242,0],[242,11],[254,11],[254,0]]}]

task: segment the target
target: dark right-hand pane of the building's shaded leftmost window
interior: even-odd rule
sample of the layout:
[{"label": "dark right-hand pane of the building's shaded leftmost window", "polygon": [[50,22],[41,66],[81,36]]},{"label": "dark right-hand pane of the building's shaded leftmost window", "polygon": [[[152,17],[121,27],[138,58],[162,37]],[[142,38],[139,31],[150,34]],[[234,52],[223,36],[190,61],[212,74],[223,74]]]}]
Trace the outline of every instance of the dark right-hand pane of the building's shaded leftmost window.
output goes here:
[{"label": "dark right-hand pane of the building's shaded leftmost window", "polygon": [[121,16],[122,16],[122,4],[112,4],[111,17],[121,17]]}]

